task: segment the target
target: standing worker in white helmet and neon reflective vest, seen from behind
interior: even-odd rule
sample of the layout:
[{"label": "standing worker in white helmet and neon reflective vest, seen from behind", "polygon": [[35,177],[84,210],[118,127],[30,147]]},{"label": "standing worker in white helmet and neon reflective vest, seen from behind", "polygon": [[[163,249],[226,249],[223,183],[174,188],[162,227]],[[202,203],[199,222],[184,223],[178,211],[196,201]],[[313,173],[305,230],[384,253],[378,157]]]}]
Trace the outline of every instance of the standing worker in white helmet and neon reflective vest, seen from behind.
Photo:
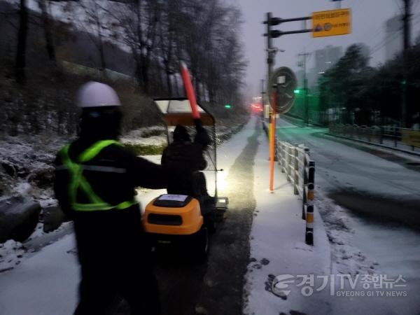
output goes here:
[{"label": "standing worker in white helmet and neon reflective vest, seen from behind", "polygon": [[109,85],[83,85],[78,106],[80,134],[57,154],[54,185],[76,233],[81,281],[75,314],[108,314],[117,294],[131,314],[160,314],[134,188],[167,188],[171,172],[118,142],[121,104]]}]

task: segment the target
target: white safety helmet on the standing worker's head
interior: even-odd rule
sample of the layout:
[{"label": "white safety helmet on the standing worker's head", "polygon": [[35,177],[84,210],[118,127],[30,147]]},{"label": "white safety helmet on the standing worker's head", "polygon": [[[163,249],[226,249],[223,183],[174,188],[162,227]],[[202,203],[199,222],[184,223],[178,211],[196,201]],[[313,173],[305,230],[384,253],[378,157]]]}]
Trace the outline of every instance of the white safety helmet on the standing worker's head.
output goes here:
[{"label": "white safety helmet on the standing worker's head", "polygon": [[90,81],[78,90],[77,104],[81,108],[121,106],[115,90],[104,83]]}]

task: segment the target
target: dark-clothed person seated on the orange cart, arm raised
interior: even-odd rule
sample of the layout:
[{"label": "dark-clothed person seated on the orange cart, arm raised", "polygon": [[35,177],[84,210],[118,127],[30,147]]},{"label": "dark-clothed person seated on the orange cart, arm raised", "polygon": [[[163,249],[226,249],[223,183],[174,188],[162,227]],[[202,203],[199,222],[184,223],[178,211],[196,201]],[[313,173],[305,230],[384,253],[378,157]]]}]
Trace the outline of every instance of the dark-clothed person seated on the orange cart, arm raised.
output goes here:
[{"label": "dark-clothed person seated on the orange cart, arm raised", "polygon": [[194,141],[186,127],[176,125],[174,137],[162,153],[162,165],[171,165],[179,171],[179,176],[169,182],[167,192],[175,195],[189,195],[200,203],[211,198],[207,193],[206,179],[202,172],[207,167],[204,151],[211,143],[207,131],[199,120],[195,121],[197,130]]}]

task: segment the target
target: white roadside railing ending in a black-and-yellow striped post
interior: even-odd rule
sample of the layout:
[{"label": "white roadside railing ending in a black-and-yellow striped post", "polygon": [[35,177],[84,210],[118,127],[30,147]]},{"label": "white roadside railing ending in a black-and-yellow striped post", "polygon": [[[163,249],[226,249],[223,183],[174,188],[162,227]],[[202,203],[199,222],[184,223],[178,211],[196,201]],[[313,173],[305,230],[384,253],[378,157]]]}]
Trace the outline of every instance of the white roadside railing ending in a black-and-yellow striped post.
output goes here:
[{"label": "white roadside railing ending in a black-and-yellow striped post", "polygon": [[295,195],[302,197],[302,219],[306,220],[305,242],[314,245],[315,162],[309,148],[277,141],[276,153],[281,172],[293,184]]}]

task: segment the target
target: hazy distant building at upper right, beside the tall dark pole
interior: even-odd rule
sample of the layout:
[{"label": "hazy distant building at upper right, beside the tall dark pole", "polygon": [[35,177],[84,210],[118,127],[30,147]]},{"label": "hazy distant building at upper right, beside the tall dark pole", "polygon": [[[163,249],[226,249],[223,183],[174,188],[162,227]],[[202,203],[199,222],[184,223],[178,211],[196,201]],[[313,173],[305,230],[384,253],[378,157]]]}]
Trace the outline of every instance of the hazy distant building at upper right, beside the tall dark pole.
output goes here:
[{"label": "hazy distant building at upper right, beside the tall dark pole", "polygon": [[385,59],[393,59],[402,50],[402,16],[397,15],[385,22]]}]

